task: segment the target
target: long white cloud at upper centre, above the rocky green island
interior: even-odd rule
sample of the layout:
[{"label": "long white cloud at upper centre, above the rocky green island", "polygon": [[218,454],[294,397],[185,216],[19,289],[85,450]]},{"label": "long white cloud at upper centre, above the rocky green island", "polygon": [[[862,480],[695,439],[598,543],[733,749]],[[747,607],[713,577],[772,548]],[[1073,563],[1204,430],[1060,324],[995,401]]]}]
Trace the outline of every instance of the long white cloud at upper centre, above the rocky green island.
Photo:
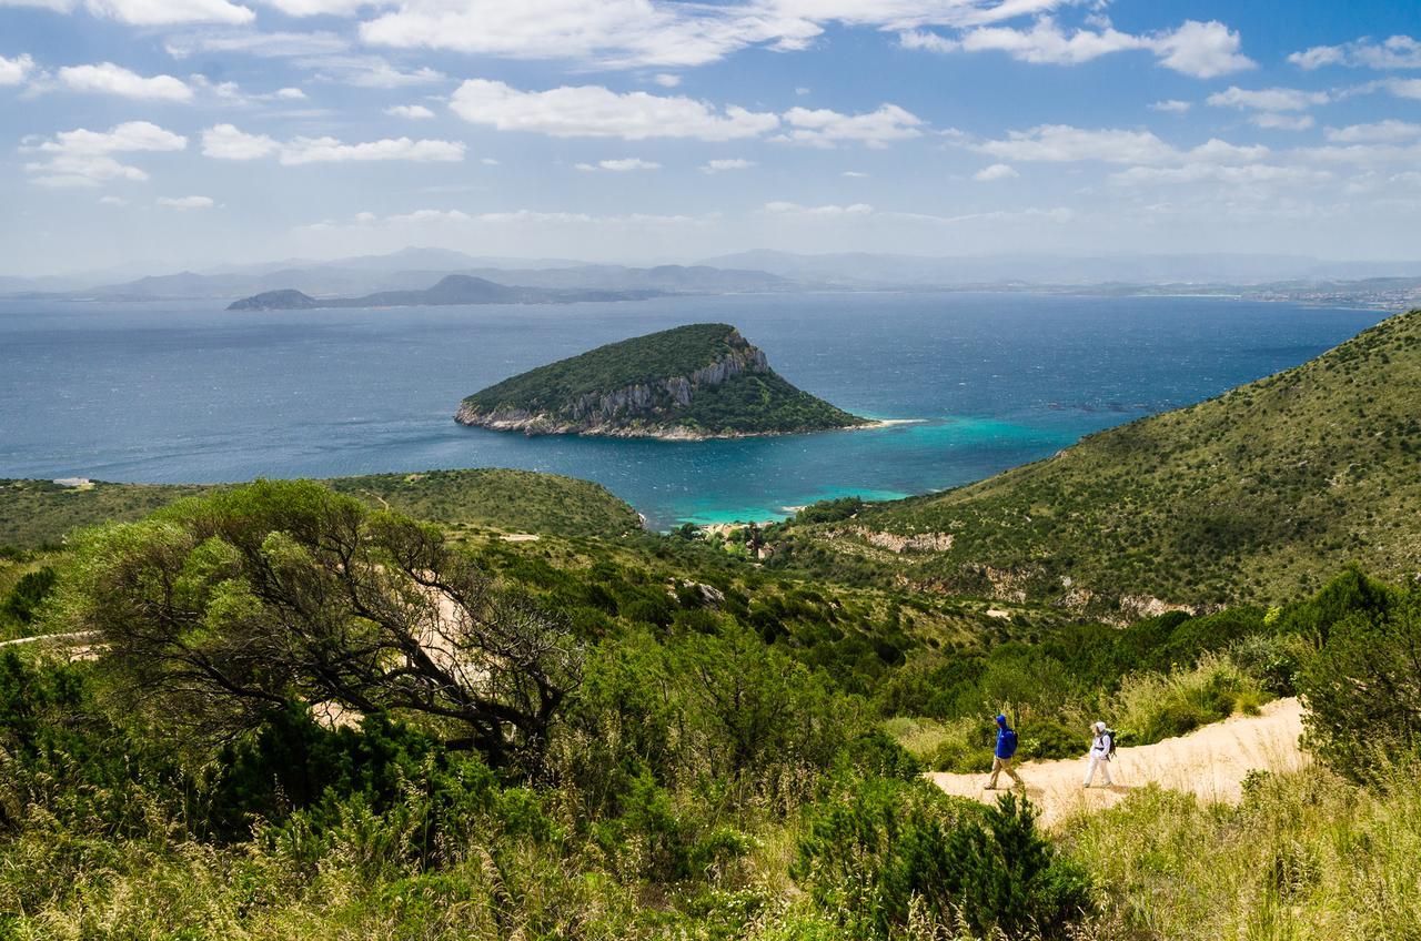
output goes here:
[{"label": "long white cloud at upper centre, above the rocky green island", "polygon": [[560,138],[696,138],[730,141],[772,131],[773,114],[712,105],[645,91],[617,94],[601,85],[519,91],[502,81],[473,78],[453,94],[450,108],[465,121],[499,131],[533,131]]}]

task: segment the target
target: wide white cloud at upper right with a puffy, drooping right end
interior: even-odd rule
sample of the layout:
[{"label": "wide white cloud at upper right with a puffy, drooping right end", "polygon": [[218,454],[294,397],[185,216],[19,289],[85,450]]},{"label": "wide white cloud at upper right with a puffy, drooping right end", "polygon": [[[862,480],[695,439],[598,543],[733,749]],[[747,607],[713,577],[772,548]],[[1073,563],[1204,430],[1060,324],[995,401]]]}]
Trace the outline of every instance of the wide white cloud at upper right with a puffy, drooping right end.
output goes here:
[{"label": "wide white cloud at upper right with a puffy, drooping right end", "polygon": [[1147,50],[1165,68],[1195,78],[1214,78],[1255,67],[1250,58],[1239,53],[1239,34],[1218,21],[1187,20],[1177,30],[1135,36],[1121,33],[1108,23],[1098,31],[1066,33],[1056,20],[1043,17],[1026,30],[1009,26],[979,27],[956,37],[911,30],[899,40],[905,48],[931,53],[999,51],[1023,63],[1047,65],[1079,65],[1113,53]]}]

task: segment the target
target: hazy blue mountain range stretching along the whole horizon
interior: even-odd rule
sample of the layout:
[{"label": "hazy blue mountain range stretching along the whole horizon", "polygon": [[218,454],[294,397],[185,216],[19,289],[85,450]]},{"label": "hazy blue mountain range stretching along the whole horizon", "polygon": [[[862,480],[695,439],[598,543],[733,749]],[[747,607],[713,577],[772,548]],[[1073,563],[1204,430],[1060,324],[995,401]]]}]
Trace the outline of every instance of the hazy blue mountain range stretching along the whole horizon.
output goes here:
[{"label": "hazy blue mountain range stretching along the whole horizon", "polygon": [[[287,259],[215,266],[200,271],[121,280],[112,271],[64,277],[0,277],[0,296],[92,300],[205,300],[296,290],[310,297],[357,297],[423,290],[448,274],[496,284],[560,290],[662,291],[675,294],[797,290],[1073,290],[1135,289],[1310,290],[1368,279],[1410,279],[1421,286],[1421,262],[1323,262],[1287,254],[794,254],[755,250],[696,264],[590,264],[571,259],[470,256],[411,247],[391,254],[328,262]],[[1395,286],[1393,286],[1395,287]]]}]

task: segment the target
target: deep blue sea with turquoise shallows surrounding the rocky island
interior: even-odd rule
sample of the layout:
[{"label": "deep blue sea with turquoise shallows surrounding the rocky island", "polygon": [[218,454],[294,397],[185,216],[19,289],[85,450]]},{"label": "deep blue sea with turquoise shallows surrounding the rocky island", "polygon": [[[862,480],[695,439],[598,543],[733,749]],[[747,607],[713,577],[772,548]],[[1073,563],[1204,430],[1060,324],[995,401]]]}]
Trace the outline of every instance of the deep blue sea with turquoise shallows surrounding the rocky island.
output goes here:
[{"label": "deep blue sea with turquoise shallows surrounding the rocky island", "polygon": [[[746,294],[227,313],[0,301],[0,478],[217,482],[433,468],[598,480],[655,527],[948,488],[1296,365],[1383,314],[1196,297]],[[877,431],[710,442],[463,428],[465,395],[652,330],[736,324]]]}]

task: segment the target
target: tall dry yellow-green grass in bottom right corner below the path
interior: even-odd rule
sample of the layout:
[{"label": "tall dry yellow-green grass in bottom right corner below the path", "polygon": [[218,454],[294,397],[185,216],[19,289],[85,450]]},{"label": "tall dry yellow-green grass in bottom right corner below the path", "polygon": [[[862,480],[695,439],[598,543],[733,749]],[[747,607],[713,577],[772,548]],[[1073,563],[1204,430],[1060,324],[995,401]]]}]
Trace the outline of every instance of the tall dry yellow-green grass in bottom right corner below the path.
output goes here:
[{"label": "tall dry yellow-green grass in bottom right corner below the path", "polygon": [[1324,768],[1258,775],[1238,807],[1148,787],[1063,827],[1130,937],[1421,938],[1421,782],[1358,789]]}]

